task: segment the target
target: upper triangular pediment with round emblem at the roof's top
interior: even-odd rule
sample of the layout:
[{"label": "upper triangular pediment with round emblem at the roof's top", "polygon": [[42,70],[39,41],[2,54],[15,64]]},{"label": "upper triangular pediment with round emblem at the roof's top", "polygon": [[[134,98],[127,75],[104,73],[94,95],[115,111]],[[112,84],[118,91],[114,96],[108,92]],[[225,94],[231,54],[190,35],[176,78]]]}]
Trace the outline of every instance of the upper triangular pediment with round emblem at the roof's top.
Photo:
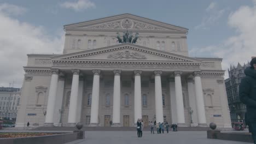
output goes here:
[{"label": "upper triangular pediment with round emblem at the roof's top", "polygon": [[68,29],[120,29],[120,30],[136,30],[136,31],[173,31],[188,32],[187,28],[170,25],[168,23],[150,20],[144,17],[122,14],[104,17],[91,21],[74,23],[65,25]]}]

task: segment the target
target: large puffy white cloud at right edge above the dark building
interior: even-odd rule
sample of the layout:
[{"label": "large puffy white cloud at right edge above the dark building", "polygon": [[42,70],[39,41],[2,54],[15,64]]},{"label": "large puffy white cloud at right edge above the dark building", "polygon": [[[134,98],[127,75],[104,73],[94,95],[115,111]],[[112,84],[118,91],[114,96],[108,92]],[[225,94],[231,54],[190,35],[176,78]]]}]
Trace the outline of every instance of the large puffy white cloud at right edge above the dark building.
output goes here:
[{"label": "large puffy white cloud at right edge above the dark building", "polygon": [[[254,0],[255,1],[255,0]],[[256,3],[252,7],[242,6],[228,17],[228,25],[234,28],[236,35],[224,43],[208,47],[213,49],[195,49],[195,51],[211,52],[213,57],[223,58],[223,69],[228,70],[230,64],[237,65],[251,61],[256,56]],[[228,75],[225,75],[225,77]]]}]

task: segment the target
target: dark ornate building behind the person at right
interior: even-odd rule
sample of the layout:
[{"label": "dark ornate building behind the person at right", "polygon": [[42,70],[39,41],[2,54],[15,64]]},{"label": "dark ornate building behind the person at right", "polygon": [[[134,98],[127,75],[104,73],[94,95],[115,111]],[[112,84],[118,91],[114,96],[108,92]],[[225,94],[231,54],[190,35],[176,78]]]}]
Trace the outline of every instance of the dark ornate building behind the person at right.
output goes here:
[{"label": "dark ornate building behind the person at right", "polygon": [[249,63],[238,63],[237,67],[230,65],[229,78],[225,80],[226,94],[228,96],[228,103],[230,109],[231,122],[244,122],[246,105],[239,99],[239,85],[243,77],[245,77],[244,70],[249,67]]}]

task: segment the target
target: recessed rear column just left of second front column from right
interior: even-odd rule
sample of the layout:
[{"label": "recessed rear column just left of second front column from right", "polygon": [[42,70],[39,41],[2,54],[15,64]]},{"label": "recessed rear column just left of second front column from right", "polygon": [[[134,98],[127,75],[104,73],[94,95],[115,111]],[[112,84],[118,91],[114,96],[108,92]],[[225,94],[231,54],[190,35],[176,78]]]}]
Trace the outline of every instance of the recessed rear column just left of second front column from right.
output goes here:
[{"label": "recessed rear column just left of second front column from right", "polygon": [[172,114],[172,123],[177,123],[177,109],[176,109],[176,97],[175,97],[175,82],[174,77],[169,78],[169,90],[170,90],[170,108],[171,108],[171,114]]}]

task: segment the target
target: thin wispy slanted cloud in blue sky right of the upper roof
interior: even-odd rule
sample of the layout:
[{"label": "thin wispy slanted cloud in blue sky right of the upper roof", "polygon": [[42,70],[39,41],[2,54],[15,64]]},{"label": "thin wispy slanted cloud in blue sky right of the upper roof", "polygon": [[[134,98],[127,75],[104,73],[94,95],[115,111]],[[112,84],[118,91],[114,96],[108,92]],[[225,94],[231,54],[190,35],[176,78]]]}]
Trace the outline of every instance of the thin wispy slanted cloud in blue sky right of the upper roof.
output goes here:
[{"label": "thin wispy slanted cloud in blue sky right of the upper roof", "polygon": [[195,26],[195,29],[206,29],[207,26],[214,25],[224,15],[228,9],[218,9],[217,3],[212,2],[206,8],[206,14],[203,16],[202,21],[199,25]]}]

